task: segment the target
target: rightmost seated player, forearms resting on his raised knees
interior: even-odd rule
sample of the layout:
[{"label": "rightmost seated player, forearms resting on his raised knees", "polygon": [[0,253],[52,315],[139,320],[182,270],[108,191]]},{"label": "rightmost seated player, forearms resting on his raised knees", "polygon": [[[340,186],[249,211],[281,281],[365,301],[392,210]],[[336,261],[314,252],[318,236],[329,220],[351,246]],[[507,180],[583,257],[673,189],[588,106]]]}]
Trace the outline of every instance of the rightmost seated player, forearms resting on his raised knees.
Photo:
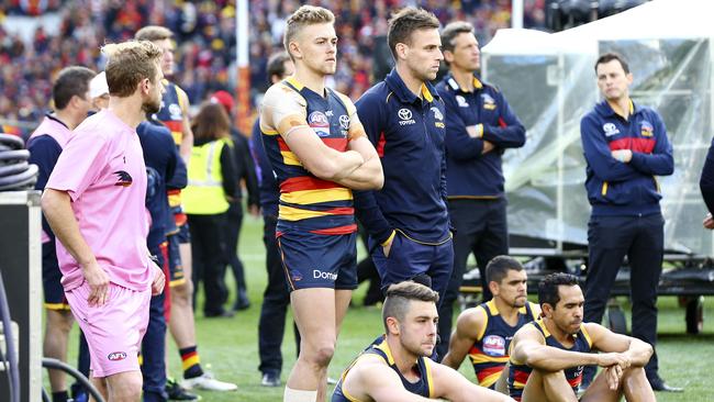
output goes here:
[{"label": "rightmost seated player, forearms resting on his raised knees", "polygon": [[[524,325],[511,342],[509,392],[516,401],[578,401],[585,365],[602,372],[580,401],[655,401],[645,369],[652,347],[637,338],[583,323],[584,297],[578,278],[553,273],[538,284],[543,317]],[[589,353],[599,350],[600,354]]]}]

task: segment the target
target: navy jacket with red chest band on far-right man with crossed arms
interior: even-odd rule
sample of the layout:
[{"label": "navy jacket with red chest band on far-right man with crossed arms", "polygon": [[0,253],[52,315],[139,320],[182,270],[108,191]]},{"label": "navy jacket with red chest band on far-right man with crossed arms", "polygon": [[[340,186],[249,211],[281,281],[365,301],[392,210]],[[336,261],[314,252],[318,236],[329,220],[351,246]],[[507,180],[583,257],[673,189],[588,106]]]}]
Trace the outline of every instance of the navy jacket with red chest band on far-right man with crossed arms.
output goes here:
[{"label": "navy jacket with red chest band on far-right man with crossed arms", "polygon": [[[631,102],[625,120],[602,101],[580,121],[580,136],[593,216],[660,213],[662,197],[655,176],[671,175],[674,159],[656,111]],[[632,160],[625,164],[613,158],[611,152],[616,149],[631,149]]]}]

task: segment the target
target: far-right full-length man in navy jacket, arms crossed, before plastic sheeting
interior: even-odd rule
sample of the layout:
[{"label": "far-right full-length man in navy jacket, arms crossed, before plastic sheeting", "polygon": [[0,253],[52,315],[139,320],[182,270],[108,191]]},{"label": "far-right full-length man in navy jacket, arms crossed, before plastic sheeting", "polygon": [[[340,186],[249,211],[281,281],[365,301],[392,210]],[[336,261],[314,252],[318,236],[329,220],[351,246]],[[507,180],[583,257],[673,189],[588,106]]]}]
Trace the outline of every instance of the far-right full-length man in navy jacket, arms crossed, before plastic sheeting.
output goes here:
[{"label": "far-right full-length man in navy jacket, arms crossed, before plastic sheeting", "polygon": [[[615,276],[627,256],[632,268],[632,333],[654,347],[665,237],[656,176],[674,170],[672,146],[660,115],[629,99],[633,76],[622,56],[600,56],[595,72],[605,100],[580,122],[588,161],[585,189],[592,205],[584,321],[602,321]],[[657,369],[655,353],[645,367],[647,379],[656,391],[674,390],[665,384]],[[593,371],[587,370],[583,382]]]}]

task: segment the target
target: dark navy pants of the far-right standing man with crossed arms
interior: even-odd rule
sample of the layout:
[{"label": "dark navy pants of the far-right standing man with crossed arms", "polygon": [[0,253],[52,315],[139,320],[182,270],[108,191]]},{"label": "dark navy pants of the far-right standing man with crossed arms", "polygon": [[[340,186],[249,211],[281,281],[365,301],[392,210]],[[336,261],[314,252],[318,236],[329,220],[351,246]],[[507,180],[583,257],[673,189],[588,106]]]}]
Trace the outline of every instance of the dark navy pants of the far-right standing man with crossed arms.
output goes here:
[{"label": "dark navy pants of the far-right standing man with crossed arms", "polygon": [[[632,335],[657,343],[657,284],[662,272],[665,220],[645,216],[591,216],[588,223],[589,265],[585,280],[585,322],[602,322],[610,291],[627,257],[631,267]],[[657,354],[645,371],[657,376]],[[594,372],[589,369],[589,372]]]}]

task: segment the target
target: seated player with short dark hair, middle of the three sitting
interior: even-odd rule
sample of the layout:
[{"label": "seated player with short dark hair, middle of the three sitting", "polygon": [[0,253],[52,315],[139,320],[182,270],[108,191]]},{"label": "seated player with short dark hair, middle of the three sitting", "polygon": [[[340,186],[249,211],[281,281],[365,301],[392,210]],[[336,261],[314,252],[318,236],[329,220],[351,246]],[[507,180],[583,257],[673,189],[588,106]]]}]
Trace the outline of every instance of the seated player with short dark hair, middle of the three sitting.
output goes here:
[{"label": "seated player with short dark hair, middle of the three sitting", "polygon": [[516,259],[493,258],[486,276],[493,299],[459,315],[442,364],[458,370],[468,355],[479,384],[493,389],[509,361],[513,335],[540,315],[540,306],[526,299],[526,272]]}]

